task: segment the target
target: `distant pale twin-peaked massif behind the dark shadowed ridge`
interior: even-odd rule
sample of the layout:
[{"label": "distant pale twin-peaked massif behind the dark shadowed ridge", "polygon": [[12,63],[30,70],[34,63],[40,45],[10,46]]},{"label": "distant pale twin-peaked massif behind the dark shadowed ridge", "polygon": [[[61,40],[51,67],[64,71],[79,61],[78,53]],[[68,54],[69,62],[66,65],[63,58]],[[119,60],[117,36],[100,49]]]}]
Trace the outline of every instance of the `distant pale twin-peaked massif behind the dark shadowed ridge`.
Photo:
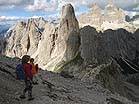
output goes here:
[{"label": "distant pale twin-peaked massif behind the dark shadowed ridge", "polygon": [[103,12],[99,5],[95,4],[88,12],[80,14],[78,21],[80,27],[90,25],[99,31],[124,28],[134,32],[139,27],[138,18],[138,15],[130,17],[126,11],[114,4],[108,4]]}]

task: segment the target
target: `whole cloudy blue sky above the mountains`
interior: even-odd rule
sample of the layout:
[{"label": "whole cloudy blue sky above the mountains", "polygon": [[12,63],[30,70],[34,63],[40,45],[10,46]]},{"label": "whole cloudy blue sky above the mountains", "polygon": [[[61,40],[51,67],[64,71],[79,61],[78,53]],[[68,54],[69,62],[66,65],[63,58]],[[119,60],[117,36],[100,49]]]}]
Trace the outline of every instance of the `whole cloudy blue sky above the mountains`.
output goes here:
[{"label": "whole cloudy blue sky above the mountains", "polygon": [[104,9],[111,2],[131,15],[139,12],[139,0],[0,0],[0,23],[39,16],[57,18],[62,6],[67,3],[73,5],[78,15],[86,12],[93,4]]}]

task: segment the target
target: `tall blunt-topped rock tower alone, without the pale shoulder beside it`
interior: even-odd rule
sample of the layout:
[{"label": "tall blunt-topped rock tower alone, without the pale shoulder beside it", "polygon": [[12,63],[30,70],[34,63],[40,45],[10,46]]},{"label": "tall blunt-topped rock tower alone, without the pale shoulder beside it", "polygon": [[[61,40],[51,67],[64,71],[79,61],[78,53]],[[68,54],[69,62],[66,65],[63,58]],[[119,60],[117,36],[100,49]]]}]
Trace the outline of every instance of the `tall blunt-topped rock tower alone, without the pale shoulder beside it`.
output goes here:
[{"label": "tall blunt-topped rock tower alone, without the pale shoulder beside it", "polygon": [[[62,18],[56,40],[56,56],[64,54],[64,61],[69,61],[77,54],[79,47],[79,25],[74,8],[67,4],[62,8]],[[61,53],[63,51],[63,53]]]}]

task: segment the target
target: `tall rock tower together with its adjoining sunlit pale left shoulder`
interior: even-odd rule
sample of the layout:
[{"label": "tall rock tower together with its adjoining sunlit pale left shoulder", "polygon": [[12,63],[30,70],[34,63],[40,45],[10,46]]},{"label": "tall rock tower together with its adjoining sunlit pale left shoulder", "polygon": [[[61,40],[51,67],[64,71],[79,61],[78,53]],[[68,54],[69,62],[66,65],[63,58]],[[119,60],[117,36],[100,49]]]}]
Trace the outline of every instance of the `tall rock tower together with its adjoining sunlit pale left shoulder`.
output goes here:
[{"label": "tall rock tower together with its adjoining sunlit pale left shoulder", "polygon": [[72,60],[79,50],[79,25],[72,5],[62,7],[58,25],[46,24],[36,57],[47,70],[57,70]]}]

